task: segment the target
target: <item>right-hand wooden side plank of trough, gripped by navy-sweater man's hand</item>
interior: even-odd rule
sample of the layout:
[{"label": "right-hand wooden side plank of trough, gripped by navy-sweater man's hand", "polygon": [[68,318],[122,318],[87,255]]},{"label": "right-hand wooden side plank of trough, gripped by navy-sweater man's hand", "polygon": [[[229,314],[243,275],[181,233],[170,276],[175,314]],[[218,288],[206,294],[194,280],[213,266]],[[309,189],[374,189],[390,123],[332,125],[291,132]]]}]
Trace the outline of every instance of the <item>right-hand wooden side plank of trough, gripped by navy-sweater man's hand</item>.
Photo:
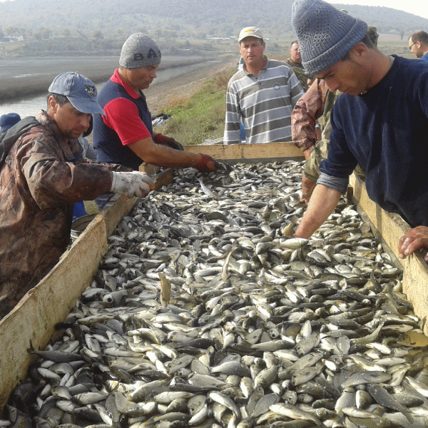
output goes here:
[{"label": "right-hand wooden side plank of trough, gripped by navy-sweater man's hand", "polygon": [[377,233],[395,255],[403,268],[403,291],[409,302],[412,302],[414,313],[424,321],[424,333],[428,335],[428,325],[425,323],[428,315],[428,266],[424,261],[426,251],[418,251],[407,258],[398,257],[399,238],[409,230],[409,225],[397,214],[387,213],[367,195],[364,182],[353,174],[350,178],[353,188],[353,197],[365,211],[367,217],[376,228]]}]

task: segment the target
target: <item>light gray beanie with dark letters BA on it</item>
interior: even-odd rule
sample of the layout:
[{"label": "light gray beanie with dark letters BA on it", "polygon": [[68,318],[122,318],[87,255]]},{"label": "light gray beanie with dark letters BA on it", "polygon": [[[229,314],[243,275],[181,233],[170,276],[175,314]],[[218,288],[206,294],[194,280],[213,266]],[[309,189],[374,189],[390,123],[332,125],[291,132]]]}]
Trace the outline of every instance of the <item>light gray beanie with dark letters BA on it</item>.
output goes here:
[{"label": "light gray beanie with dark letters BA on it", "polygon": [[161,63],[161,51],[158,45],[146,34],[134,33],[122,46],[119,66],[138,68],[156,66]]}]

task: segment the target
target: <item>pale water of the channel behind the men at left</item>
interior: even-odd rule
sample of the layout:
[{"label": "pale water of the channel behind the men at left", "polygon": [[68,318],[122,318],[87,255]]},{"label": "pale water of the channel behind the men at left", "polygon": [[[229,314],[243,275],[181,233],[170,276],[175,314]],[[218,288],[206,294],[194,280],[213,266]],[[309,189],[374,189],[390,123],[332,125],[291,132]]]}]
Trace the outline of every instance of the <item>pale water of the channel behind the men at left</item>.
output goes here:
[{"label": "pale water of the channel behind the men at left", "polygon": [[[189,73],[190,71],[196,70],[198,68],[206,66],[207,63],[195,63],[195,64],[186,64],[184,66],[177,66],[171,68],[163,68],[156,72],[156,79],[152,83],[152,86],[156,86],[157,83],[167,81],[170,78],[180,76],[181,74]],[[19,73],[16,75],[16,78],[19,78],[27,73]],[[33,73],[31,76],[37,76],[38,73]],[[1,70],[0,70],[1,76]],[[98,91],[103,87],[106,82],[96,84]],[[0,116],[5,113],[18,113],[21,118],[25,116],[36,116],[41,109],[46,110],[46,93],[39,96],[32,96],[28,98],[19,98],[9,101],[3,101],[0,103]]]}]

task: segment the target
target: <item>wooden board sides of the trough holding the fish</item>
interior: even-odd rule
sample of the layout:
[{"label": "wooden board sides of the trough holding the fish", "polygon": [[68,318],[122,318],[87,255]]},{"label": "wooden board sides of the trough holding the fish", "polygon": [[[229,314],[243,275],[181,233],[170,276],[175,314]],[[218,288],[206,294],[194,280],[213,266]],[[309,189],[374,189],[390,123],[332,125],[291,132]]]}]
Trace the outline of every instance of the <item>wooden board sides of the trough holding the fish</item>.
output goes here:
[{"label": "wooden board sides of the trough holding the fish", "polygon": [[[269,143],[257,145],[238,144],[233,146],[185,146],[186,151],[207,153],[226,163],[266,163],[272,161],[302,161],[302,152],[293,143]],[[156,171],[151,165],[145,170]],[[173,180],[173,170],[158,174],[157,188]],[[352,199],[374,233],[382,238],[396,257],[399,238],[409,229],[402,218],[391,215],[367,197],[365,185],[356,175],[350,180]],[[14,310],[0,321],[0,417],[12,390],[26,378],[31,355],[31,345],[43,349],[54,335],[56,323],[64,320],[76,304],[83,290],[91,284],[103,255],[108,250],[107,238],[118,222],[136,203],[137,198],[120,197],[108,203],[91,221],[86,230],[75,240],[61,260],[19,302]],[[422,254],[415,254],[402,264],[403,289],[414,311],[425,320],[428,314],[427,282],[428,270]],[[428,333],[424,326],[425,334]]]}]

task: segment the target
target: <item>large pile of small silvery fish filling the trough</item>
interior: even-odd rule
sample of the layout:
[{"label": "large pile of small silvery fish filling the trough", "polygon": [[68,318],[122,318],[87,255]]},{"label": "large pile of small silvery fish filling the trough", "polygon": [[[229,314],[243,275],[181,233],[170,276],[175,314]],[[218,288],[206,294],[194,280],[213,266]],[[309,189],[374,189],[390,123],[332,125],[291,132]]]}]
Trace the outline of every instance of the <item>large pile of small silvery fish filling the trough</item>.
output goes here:
[{"label": "large pile of small silvery fish filling the trough", "polygon": [[301,170],[180,170],[139,200],[0,427],[427,427],[402,271],[345,199],[292,238]]}]

